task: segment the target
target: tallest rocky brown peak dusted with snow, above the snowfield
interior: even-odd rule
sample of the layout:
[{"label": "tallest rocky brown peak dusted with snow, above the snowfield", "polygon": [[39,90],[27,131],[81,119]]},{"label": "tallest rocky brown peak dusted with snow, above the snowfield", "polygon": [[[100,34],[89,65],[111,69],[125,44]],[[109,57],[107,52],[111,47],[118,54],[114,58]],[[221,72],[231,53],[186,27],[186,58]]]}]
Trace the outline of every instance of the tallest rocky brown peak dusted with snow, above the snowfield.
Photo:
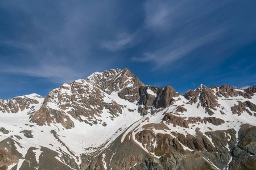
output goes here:
[{"label": "tallest rocky brown peak dusted with snow, above the snowfield", "polygon": [[138,101],[139,88],[143,85],[128,69],[96,72],[85,80],[64,83],[49,92],[42,109],[32,116],[31,121],[39,125],[61,123],[67,129],[75,126],[73,118],[90,125],[104,124],[97,117],[105,111],[113,118],[122,113],[121,105],[125,104],[118,104],[115,98],[134,103]]}]

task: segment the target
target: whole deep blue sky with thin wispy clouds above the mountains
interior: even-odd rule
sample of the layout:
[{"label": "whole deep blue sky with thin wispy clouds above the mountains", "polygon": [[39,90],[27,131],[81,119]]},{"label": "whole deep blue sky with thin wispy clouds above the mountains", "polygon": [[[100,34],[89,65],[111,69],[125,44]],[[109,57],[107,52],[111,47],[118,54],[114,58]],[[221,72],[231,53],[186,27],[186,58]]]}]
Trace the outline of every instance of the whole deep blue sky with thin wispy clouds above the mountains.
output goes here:
[{"label": "whole deep blue sky with thin wispy clouds above the mountains", "polygon": [[256,84],[256,1],[1,1],[0,99],[131,70],[183,94]]}]

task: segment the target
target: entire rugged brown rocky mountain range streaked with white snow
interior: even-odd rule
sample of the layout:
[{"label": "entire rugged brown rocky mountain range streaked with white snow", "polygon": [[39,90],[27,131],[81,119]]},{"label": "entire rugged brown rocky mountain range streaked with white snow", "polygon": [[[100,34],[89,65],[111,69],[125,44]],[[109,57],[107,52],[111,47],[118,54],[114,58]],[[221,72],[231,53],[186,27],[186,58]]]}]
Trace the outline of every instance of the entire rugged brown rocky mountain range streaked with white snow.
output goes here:
[{"label": "entire rugged brown rocky mountain range streaked with white snow", "polygon": [[255,169],[256,87],[179,94],[128,69],[0,100],[0,169]]}]

